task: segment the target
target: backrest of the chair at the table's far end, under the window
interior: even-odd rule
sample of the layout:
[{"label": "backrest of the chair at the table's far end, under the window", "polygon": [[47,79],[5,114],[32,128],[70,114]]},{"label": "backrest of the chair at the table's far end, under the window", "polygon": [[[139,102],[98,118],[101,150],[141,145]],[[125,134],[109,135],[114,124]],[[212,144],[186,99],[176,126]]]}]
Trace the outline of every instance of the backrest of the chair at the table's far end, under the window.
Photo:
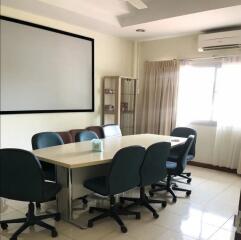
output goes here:
[{"label": "backrest of the chair at the table's far end, under the window", "polygon": [[177,128],[174,128],[173,131],[171,132],[171,136],[175,136],[175,137],[188,138],[189,135],[193,135],[194,140],[188,154],[191,154],[193,155],[193,157],[195,157],[196,140],[197,140],[196,130],[192,128],[187,128],[187,127],[177,127]]}]

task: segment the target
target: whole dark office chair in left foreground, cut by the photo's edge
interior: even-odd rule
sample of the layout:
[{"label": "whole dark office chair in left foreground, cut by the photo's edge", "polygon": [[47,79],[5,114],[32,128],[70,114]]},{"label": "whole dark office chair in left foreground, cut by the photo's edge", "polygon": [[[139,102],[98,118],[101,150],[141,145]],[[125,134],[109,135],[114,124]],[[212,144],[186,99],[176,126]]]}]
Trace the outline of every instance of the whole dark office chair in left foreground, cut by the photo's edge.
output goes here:
[{"label": "whole dark office chair in left foreground, cut by the photo's edge", "polygon": [[26,228],[33,225],[46,228],[51,231],[52,237],[57,237],[56,229],[42,220],[54,218],[59,221],[60,214],[36,216],[33,202],[47,202],[54,198],[60,189],[59,184],[44,179],[41,164],[31,152],[13,148],[0,149],[0,197],[29,202],[25,218],[0,221],[3,230],[7,229],[10,223],[23,223],[10,240],[17,240]]}]

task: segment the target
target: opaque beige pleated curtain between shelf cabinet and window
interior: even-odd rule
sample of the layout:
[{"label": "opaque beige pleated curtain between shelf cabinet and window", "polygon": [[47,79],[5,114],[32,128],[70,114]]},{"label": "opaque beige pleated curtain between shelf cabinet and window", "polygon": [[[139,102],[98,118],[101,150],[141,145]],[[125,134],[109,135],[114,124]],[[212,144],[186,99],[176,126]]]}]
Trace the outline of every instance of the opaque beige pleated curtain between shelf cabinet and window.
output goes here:
[{"label": "opaque beige pleated curtain between shelf cabinet and window", "polygon": [[142,96],[140,132],[169,135],[176,124],[179,62],[146,62]]}]

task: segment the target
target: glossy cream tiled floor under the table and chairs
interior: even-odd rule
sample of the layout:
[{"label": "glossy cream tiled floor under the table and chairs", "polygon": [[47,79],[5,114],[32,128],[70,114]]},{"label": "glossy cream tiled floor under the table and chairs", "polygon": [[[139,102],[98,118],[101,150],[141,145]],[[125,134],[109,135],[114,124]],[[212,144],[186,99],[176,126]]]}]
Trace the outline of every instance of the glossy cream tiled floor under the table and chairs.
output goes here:
[{"label": "glossy cream tiled floor under the table and chairs", "polygon": [[[233,217],[238,210],[241,178],[234,174],[189,167],[193,181],[183,187],[192,189],[190,198],[177,193],[177,203],[169,203],[165,209],[155,206],[160,217],[153,219],[152,214],[141,208],[141,220],[124,218],[128,233],[123,234],[110,219],[97,222],[93,228],[81,230],[64,221],[55,224],[59,240],[231,240],[234,239]],[[157,196],[158,197],[158,196]],[[166,196],[167,200],[169,197]],[[47,206],[43,206],[43,209]],[[1,206],[1,218],[23,217],[26,204],[4,200]],[[7,231],[0,230],[0,239],[9,239],[19,227],[9,225]],[[26,230],[22,239],[52,239],[47,230],[33,227]]]}]

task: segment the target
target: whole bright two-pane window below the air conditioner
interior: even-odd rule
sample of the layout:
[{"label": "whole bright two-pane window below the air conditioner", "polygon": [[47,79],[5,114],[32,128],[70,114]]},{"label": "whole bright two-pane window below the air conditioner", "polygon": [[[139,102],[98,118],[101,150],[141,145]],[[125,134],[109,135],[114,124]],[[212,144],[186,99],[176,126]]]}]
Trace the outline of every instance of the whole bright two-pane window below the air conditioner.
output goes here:
[{"label": "whole bright two-pane window below the air conditioner", "polygon": [[179,76],[177,125],[197,121],[241,123],[241,63],[182,65]]}]

